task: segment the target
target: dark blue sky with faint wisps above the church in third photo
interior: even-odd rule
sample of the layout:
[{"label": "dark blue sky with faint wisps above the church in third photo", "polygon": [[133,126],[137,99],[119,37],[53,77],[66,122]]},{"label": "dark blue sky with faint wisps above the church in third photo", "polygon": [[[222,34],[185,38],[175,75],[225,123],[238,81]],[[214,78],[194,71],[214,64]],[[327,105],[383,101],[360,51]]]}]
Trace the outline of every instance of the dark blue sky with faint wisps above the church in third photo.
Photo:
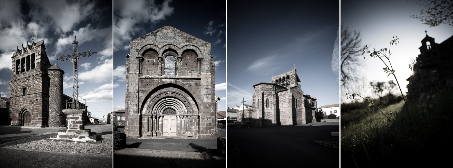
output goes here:
[{"label": "dark blue sky with faint wisps above the church in third photo", "polygon": [[304,94],[339,103],[337,0],[228,1],[228,25],[228,107],[251,104],[254,84],[294,64]]}]

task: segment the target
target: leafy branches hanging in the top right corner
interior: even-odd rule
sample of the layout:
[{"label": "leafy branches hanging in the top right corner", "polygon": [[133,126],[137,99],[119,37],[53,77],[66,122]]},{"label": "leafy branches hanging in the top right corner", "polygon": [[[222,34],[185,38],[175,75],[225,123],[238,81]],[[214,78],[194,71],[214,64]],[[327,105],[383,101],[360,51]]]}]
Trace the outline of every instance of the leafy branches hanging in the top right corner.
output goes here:
[{"label": "leafy branches hanging in the top right corner", "polygon": [[423,6],[420,15],[412,15],[411,18],[420,19],[429,27],[440,24],[453,26],[453,2],[451,0],[419,0],[418,5]]}]

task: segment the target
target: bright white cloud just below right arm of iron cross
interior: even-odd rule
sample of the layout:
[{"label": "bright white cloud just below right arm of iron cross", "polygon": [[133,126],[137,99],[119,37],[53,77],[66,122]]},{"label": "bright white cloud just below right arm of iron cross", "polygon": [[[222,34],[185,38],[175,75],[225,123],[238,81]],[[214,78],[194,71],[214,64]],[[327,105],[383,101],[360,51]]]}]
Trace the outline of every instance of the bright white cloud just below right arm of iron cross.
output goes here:
[{"label": "bright white cloud just below right arm of iron cross", "polygon": [[111,81],[112,67],[113,67],[112,60],[111,59],[105,60],[103,64],[97,65],[92,70],[79,73],[78,79],[94,83]]}]

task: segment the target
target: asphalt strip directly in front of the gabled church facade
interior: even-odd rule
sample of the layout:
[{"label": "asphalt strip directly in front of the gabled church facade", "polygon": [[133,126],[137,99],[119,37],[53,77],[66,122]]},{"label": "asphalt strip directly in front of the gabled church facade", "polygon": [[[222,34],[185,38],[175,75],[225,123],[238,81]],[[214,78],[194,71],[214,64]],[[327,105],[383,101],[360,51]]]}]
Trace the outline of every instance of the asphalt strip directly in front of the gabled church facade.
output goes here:
[{"label": "asphalt strip directly in front of the gabled church facade", "polygon": [[212,139],[127,139],[127,148],[156,149],[184,152],[216,152],[217,137],[226,137],[226,131],[218,129]]}]

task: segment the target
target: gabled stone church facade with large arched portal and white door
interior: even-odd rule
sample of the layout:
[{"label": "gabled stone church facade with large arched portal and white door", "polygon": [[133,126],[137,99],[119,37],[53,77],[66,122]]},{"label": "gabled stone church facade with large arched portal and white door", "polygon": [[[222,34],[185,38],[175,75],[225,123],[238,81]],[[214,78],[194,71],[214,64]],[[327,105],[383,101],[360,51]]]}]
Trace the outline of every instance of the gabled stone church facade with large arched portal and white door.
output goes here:
[{"label": "gabled stone church facade with large arched portal and white door", "polygon": [[210,53],[210,43],[170,26],[130,41],[127,137],[214,137],[215,65]]}]

